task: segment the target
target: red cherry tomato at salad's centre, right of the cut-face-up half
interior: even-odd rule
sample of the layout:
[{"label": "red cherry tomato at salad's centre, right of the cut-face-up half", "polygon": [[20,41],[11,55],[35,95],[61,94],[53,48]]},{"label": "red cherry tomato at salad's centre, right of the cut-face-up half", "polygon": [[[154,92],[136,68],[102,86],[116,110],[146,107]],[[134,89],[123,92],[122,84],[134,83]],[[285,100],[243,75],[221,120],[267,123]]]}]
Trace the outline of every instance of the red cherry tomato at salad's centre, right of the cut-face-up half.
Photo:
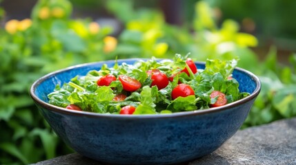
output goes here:
[{"label": "red cherry tomato at salad's centre, right of the cut-face-up half", "polygon": [[164,89],[166,86],[168,86],[168,77],[166,76],[166,74],[160,72],[157,69],[153,69],[153,70],[148,70],[147,72],[148,75],[152,75],[151,76],[151,87],[152,86],[157,86],[157,88],[160,89]]}]

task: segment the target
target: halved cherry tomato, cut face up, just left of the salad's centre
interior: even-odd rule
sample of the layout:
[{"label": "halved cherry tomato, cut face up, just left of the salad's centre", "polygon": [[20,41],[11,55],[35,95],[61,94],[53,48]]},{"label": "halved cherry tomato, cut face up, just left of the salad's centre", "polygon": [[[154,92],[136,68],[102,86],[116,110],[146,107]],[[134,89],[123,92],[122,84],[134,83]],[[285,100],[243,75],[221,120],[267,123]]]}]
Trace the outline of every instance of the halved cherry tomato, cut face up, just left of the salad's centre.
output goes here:
[{"label": "halved cherry tomato, cut face up, just left of the salad's centre", "polygon": [[119,75],[118,80],[126,91],[137,91],[141,87],[141,83],[138,80],[126,75]]}]

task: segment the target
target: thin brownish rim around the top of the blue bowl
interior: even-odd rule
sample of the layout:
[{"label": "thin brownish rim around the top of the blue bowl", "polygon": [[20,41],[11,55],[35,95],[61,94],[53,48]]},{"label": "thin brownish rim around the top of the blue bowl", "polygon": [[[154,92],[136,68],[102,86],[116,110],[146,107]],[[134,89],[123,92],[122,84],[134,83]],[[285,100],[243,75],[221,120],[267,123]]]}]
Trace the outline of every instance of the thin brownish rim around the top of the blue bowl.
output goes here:
[{"label": "thin brownish rim around the top of the blue bowl", "polygon": [[[117,62],[119,63],[128,63],[130,62],[136,62],[136,61],[146,61],[150,58],[126,58],[126,59],[119,59]],[[157,60],[170,60],[168,58],[157,58]],[[55,74],[59,74],[61,72],[67,72],[71,69],[77,69],[79,67],[86,67],[88,65],[96,65],[96,64],[104,64],[104,63],[114,63],[115,60],[109,60],[109,61],[97,61],[92,63],[82,63],[79,65],[73,65],[70,67],[66,67],[64,69],[58,69],[55,72],[50,72],[49,74],[46,74],[45,76],[42,76],[41,78],[38,78],[30,87],[30,96],[34,100],[35,104],[41,105],[41,107],[45,109],[49,109],[50,111],[63,113],[67,115],[79,115],[79,116],[87,116],[91,118],[118,118],[118,119],[144,119],[144,118],[179,118],[184,117],[188,115],[204,115],[207,113],[215,113],[219,111],[224,111],[233,107],[237,107],[239,104],[244,104],[248,102],[249,100],[253,100],[253,98],[256,98],[259,95],[259,92],[261,90],[261,82],[259,78],[253,74],[252,72],[249,72],[246,69],[242,69],[240,67],[235,67],[235,70],[238,70],[239,72],[244,72],[248,76],[250,76],[251,79],[253,79],[256,83],[256,88],[253,91],[252,94],[249,96],[246,96],[246,98],[242,98],[240,100],[237,100],[235,102],[230,102],[229,104],[226,104],[221,107],[213,107],[210,109],[199,109],[195,111],[181,111],[181,112],[175,112],[175,113],[163,113],[163,114],[141,114],[141,115],[120,115],[120,114],[110,114],[110,113],[94,113],[94,112],[88,112],[88,111],[72,111],[66,108],[57,107],[55,105],[49,104],[48,102],[44,102],[40,98],[34,94],[36,88],[38,85],[40,85],[44,80],[51,78],[52,76],[55,76]],[[205,65],[205,62],[202,61],[196,61],[195,65]]]}]

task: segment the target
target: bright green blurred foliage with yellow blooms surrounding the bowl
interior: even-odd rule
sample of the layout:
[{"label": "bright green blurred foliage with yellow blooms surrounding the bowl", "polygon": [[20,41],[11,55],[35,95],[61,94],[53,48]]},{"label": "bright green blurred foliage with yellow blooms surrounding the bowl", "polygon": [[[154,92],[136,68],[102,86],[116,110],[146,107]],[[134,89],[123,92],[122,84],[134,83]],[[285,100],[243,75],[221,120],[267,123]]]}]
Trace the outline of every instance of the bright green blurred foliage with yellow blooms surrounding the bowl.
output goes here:
[{"label": "bright green blurred foliage with yellow blooms surrounding the bowl", "polygon": [[240,32],[230,19],[218,26],[208,3],[196,3],[193,21],[182,27],[166,23],[159,10],[133,8],[131,0],[104,5],[125,25],[117,39],[108,36],[112,28],[100,28],[91,19],[71,19],[67,0],[39,0],[31,19],[10,20],[0,28],[0,164],[29,164],[72,152],[43,120],[29,89],[44,74],[79,63],[171,58],[176,53],[190,53],[196,61],[239,57],[239,67],[262,80],[242,128],[296,116],[296,55],[290,56],[290,65],[280,65],[273,47],[259,61],[249,48],[258,44],[255,36]]}]

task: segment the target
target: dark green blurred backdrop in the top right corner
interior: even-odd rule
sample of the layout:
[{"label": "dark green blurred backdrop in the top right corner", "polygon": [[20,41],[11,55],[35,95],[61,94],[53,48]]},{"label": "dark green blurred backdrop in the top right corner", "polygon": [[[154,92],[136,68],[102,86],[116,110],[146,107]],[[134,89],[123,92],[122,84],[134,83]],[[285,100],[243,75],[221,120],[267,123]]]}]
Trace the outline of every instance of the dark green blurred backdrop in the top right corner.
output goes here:
[{"label": "dark green blurred backdrop in the top right corner", "polygon": [[271,1],[215,1],[215,5],[223,10],[224,18],[233,18],[243,21],[251,18],[257,26],[260,36],[273,36],[279,38],[295,39],[296,23],[293,15],[296,14],[296,1],[271,0]]}]

